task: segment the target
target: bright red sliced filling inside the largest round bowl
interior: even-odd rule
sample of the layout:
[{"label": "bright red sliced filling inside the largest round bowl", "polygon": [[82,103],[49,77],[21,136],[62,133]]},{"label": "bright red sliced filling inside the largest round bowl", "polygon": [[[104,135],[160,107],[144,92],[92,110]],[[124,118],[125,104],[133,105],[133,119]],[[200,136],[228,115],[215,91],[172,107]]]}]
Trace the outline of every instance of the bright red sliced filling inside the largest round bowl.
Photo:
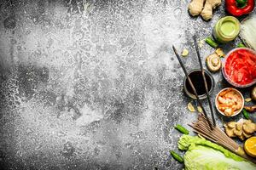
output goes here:
[{"label": "bright red sliced filling inside the largest round bowl", "polygon": [[236,50],[226,60],[224,70],[232,82],[251,83],[256,79],[256,54],[247,49]]}]

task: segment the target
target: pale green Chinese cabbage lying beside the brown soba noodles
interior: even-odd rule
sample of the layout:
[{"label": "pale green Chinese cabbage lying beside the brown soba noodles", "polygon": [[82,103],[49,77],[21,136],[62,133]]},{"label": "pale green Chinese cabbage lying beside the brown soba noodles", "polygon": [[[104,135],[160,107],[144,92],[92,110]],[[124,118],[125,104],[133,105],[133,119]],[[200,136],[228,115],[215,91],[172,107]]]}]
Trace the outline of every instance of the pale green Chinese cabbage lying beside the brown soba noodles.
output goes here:
[{"label": "pale green Chinese cabbage lying beside the brown soba noodles", "polygon": [[186,170],[228,170],[228,169],[256,169],[256,165],[240,156],[214,144],[207,139],[183,134],[178,141],[180,150],[187,150],[184,155]]}]

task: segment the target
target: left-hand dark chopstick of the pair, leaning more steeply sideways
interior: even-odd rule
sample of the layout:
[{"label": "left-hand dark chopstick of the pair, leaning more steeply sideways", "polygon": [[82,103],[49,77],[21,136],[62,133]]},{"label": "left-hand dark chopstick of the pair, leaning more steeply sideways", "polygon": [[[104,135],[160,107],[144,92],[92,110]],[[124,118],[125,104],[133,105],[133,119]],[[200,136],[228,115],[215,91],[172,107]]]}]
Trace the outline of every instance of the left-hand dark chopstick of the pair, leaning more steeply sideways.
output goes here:
[{"label": "left-hand dark chopstick of the pair, leaning more steeply sideways", "polygon": [[197,103],[201,106],[201,110],[202,110],[204,116],[206,116],[206,118],[207,118],[208,126],[209,126],[209,127],[211,128],[211,130],[212,130],[212,123],[210,122],[209,117],[207,116],[206,110],[204,109],[204,107],[203,107],[202,104],[201,104],[201,100],[200,100],[199,97],[198,97],[198,94],[197,94],[197,92],[196,92],[196,90],[195,90],[194,84],[193,84],[193,82],[191,81],[191,79],[190,79],[190,77],[189,77],[189,74],[188,74],[188,72],[186,71],[185,66],[183,65],[182,60],[180,59],[179,54],[177,54],[177,49],[176,49],[173,45],[172,45],[172,49],[173,49],[174,53],[176,54],[177,60],[178,60],[179,64],[181,65],[181,67],[182,67],[182,69],[183,69],[183,72],[184,72],[185,76],[187,77],[187,79],[188,79],[188,81],[189,81],[189,85],[190,85],[190,87],[192,88],[192,90],[193,90],[193,92],[194,92],[194,94],[195,94]]}]

